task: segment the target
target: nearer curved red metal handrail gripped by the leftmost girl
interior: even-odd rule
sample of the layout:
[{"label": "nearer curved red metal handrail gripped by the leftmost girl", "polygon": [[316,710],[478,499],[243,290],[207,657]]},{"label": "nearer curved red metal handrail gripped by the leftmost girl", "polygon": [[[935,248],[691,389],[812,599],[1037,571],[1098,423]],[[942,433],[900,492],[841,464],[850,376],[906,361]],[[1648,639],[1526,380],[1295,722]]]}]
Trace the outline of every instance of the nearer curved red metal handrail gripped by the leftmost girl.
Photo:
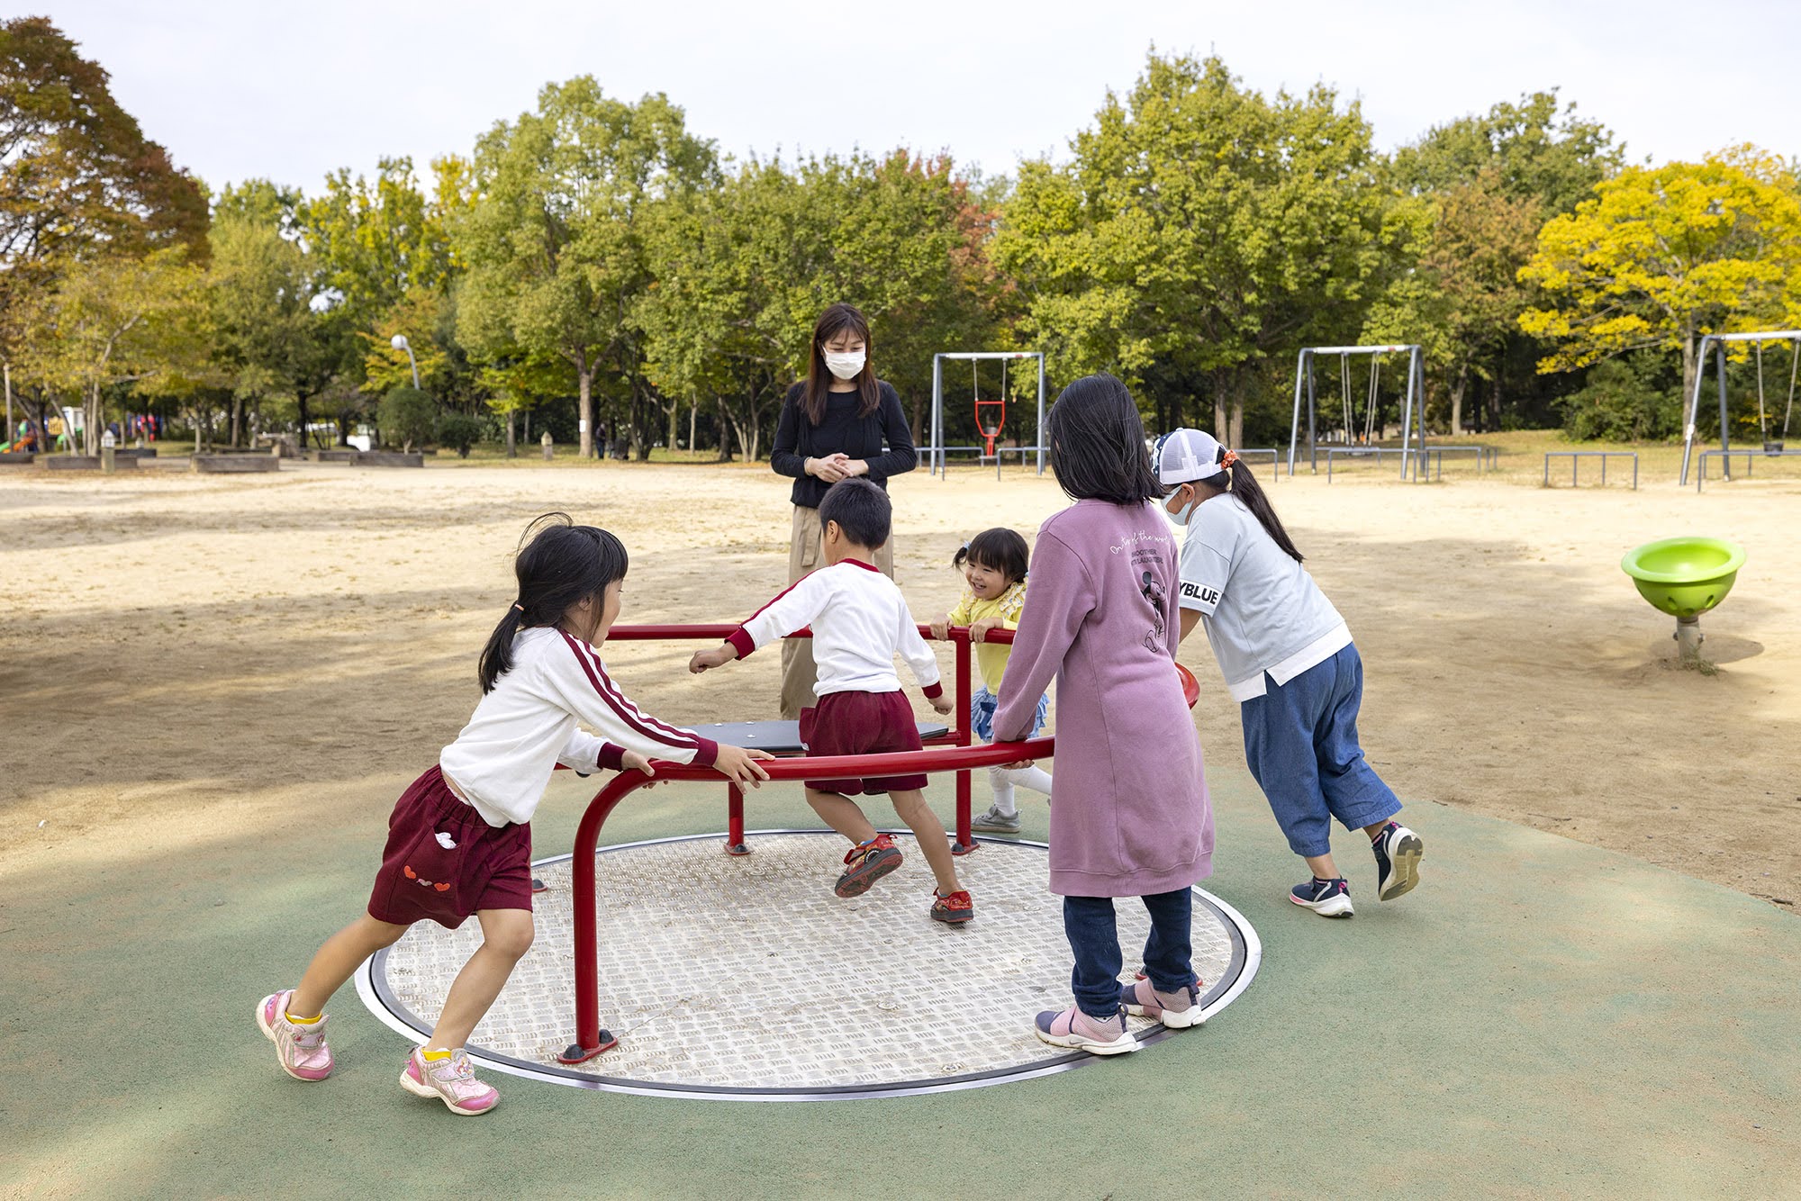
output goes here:
[{"label": "nearer curved red metal handrail gripped by the leftmost girl", "polygon": [[[735,627],[731,627],[735,628]],[[897,751],[891,754],[827,754],[819,758],[767,760],[762,763],[769,780],[821,780],[845,776],[904,776],[935,771],[967,772],[976,767],[994,767],[1016,760],[1055,756],[1054,738],[1028,742],[994,742],[982,747],[928,747],[924,751]],[[600,852],[600,828],[607,816],[627,796],[645,785],[665,780],[719,780],[711,767],[690,763],[654,763],[656,778],[638,771],[620,772],[594,794],[575,832],[575,859],[571,862],[571,902],[575,904],[575,1032],[576,1041],[564,1050],[566,1064],[578,1064],[600,1055],[614,1044],[602,1037],[600,1028],[600,915],[594,911],[594,871]],[[737,792],[737,787],[733,787]]]}]

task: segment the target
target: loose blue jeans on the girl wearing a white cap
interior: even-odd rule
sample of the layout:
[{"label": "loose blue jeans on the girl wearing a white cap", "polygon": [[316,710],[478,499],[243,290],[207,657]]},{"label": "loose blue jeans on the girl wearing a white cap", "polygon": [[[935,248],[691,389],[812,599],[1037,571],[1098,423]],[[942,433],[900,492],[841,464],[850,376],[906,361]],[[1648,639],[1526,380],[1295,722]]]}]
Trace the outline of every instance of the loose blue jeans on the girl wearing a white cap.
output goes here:
[{"label": "loose blue jeans on the girl wearing a white cap", "polygon": [[1345,646],[1286,684],[1264,679],[1268,693],[1243,702],[1244,762],[1270,798],[1275,823],[1302,857],[1333,850],[1336,817],[1347,830],[1401,812],[1356,744],[1363,702],[1363,659]]}]

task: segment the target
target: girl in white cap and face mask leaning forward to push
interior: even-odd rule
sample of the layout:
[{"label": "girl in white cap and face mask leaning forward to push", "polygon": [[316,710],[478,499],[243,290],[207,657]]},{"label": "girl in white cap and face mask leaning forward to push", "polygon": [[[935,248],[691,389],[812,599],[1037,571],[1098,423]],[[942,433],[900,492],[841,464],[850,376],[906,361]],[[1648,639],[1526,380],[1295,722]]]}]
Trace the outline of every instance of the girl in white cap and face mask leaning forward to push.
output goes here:
[{"label": "girl in white cap and face mask leaning forward to push", "polygon": [[1244,762],[1288,846],[1311,879],[1288,898],[1351,917],[1351,884],[1333,862],[1333,817],[1376,855],[1376,898],[1419,882],[1425,843],[1394,821],[1401,801],[1358,745],[1363,659],[1351,627],[1300,565],[1257,477],[1212,434],[1174,430],[1156,445],[1165,511],[1181,540],[1181,637],[1196,621],[1239,702]]}]

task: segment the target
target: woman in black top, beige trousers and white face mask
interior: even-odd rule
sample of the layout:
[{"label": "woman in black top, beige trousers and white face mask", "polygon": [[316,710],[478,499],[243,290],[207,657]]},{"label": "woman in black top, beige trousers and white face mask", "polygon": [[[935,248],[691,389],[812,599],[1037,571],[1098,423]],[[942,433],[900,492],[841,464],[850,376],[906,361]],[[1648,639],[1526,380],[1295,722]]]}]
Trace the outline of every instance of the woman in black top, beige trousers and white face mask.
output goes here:
[{"label": "woman in black top, beige trousers and white face mask", "polygon": [[[819,313],[807,378],[794,384],[782,402],[769,465],[776,475],[794,477],[789,493],[794,502],[789,583],[819,565],[819,501],[827,488],[861,475],[886,492],[890,475],[919,466],[900,396],[875,378],[870,364],[870,322],[850,304],[832,304]],[[872,547],[872,555],[875,567],[893,578],[893,542]],[[798,718],[812,704],[814,679],[812,645],[803,637],[783,641],[783,720]]]}]

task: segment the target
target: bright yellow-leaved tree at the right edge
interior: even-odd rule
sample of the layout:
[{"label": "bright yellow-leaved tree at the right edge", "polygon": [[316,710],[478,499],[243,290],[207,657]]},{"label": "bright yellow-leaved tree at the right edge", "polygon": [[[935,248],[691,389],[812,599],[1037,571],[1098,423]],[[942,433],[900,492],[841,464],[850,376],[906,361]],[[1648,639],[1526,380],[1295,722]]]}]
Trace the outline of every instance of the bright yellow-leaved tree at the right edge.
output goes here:
[{"label": "bright yellow-leaved tree at the right edge", "polygon": [[1801,317],[1801,196],[1779,158],[1742,146],[1630,167],[1594,191],[1540,230],[1520,268],[1543,290],[1543,306],[1520,315],[1554,344],[1542,373],[1680,349],[1691,396],[1702,333]]}]

